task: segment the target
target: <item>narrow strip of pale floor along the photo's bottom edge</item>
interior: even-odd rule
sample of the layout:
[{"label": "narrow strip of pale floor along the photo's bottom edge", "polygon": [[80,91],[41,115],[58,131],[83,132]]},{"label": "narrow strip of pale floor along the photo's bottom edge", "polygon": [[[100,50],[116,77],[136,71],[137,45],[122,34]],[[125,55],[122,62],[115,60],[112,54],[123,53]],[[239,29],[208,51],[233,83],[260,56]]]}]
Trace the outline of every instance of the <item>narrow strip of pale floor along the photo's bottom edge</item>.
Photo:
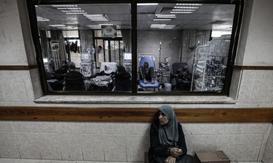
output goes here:
[{"label": "narrow strip of pale floor along the photo's bottom edge", "polygon": [[[45,160],[45,159],[4,159],[0,158],[0,163],[118,163],[118,162],[92,162],[92,161],[64,161],[64,160]],[[122,162],[133,163],[133,162]],[[134,162],[137,163],[137,162]],[[140,162],[138,162],[140,163]],[[231,162],[231,163],[262,163],[262,162]]]}]

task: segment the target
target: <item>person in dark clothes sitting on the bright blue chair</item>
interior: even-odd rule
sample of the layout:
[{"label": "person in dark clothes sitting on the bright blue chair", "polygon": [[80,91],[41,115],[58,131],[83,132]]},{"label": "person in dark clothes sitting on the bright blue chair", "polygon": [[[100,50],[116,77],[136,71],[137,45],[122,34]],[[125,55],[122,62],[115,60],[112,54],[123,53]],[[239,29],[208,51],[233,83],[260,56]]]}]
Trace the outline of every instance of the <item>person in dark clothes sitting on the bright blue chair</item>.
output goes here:
[{"label": "person in dark clothes sitting on the bright blue chair", "polygon": [[151,84],[154,84],[154,67],[149,67],[149,63],[144,62],[144,66],[139,67],[139,71],[144,84],[147,84],[147,80],[151,80]]}]

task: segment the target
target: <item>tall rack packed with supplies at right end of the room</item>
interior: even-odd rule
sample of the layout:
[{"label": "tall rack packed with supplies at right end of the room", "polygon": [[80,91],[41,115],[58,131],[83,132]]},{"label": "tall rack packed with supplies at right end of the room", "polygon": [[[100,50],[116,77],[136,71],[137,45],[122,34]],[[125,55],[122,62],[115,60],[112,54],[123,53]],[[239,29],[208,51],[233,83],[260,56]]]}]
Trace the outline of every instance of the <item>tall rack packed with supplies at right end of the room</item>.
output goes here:
[{"label": "tall rack packed with supplies at right end of the room", "polygon": [[230,35],[213,38],[196,48],[191,91],[223,91]]}]

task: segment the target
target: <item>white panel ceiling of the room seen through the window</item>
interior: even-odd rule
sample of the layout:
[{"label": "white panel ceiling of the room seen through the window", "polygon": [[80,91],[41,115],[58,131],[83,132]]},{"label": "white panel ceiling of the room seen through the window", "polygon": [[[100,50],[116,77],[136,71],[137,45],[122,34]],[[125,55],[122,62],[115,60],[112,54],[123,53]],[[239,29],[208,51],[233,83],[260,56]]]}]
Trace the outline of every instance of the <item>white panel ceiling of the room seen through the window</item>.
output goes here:
[{"label": "white panel ceiling of the room seen through the window", "polygon": [[[173,30],[231,30],[227,26],[232,26],[235,12],[235,5],[232,4],[203,4],[193,13],[175,13],[176,18],[171,18],[171,21],[154,21],[156,14],[173,14],[171,10],[174,6],[176,4],[137,6],[137,28],[158,30],[159,28],[150,28],[151,24],[168,24],[176,25]],[[70,30],[92,29],[90,25],[98,24],[114,24],[120,28],[132,28],[130,4],[77,4],[77,8],[80,8],[87,14],[105,14],[109,21],[90,21],[83,14],[66,14],[55,6],[38,5],[36,7],[36,15],[49,20],[38,21],[38,28],[57,30],[59,28],[48,26],[57,24],[68,26]]]}]

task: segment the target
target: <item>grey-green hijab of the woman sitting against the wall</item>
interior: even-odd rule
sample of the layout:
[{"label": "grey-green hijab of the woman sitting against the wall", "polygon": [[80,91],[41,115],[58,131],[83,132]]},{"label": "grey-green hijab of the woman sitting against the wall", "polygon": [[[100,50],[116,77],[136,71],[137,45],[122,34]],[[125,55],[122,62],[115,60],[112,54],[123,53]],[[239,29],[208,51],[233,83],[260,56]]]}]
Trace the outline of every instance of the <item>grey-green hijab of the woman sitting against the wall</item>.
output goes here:
[{"label": "grey-green hijab of the woman sitting against the wall", "polygon": [[168,118],[166,125],[159,124],[159,142],[162,145],[176,145],[178,142],[178,120],[171,106],[161,106],[159,111]]}]

